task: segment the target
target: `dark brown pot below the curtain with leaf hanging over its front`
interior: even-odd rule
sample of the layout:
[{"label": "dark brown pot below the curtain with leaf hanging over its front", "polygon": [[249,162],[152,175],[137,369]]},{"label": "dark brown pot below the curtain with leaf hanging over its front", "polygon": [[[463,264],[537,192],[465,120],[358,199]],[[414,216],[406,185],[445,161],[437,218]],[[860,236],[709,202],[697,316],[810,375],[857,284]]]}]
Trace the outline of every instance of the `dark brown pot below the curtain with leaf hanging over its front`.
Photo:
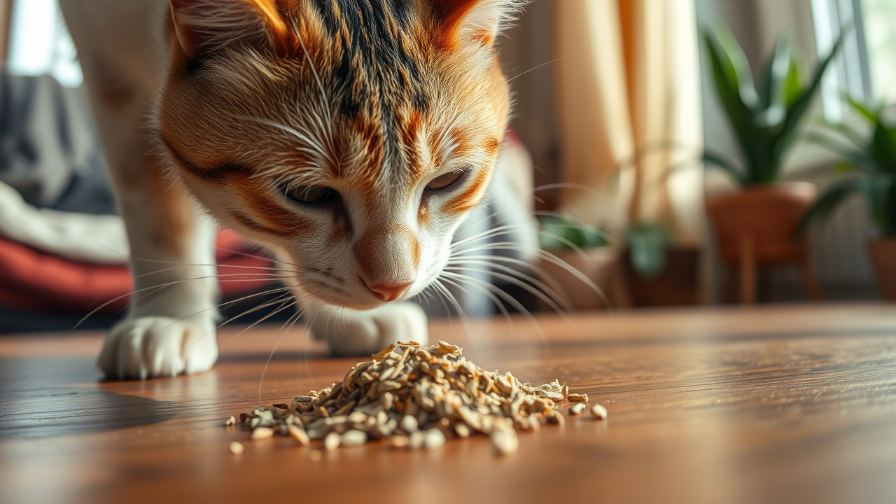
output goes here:
[{"label": "dark brown pot below the curtain with leaf hanging over its front", "polygon": [[625,249],[619,261],[624,281],[623,291],[617,293],[621,306],[688,306],[700,301],[700,249],[667,248],[666,268],[652,280],[642,279],[630,257]]}]

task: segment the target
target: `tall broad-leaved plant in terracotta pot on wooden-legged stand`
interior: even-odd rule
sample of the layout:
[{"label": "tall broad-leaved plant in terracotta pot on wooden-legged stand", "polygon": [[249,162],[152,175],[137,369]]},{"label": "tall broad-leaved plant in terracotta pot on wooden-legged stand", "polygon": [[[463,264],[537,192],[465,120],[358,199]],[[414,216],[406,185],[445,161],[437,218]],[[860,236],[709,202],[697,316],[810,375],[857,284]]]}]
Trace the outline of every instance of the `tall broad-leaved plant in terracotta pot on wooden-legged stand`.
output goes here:
[{"label": "tall broad-leaved plant in terracotta pot on wooden-legged stand", "polygon": [[807,267],[808,242],[794,239],[794,230],[813,204],[816,190],[807,182],[782,182],[781,171],[843,36],[805,83],[789,40],[780,39],[764,65],[758,89],[743,51],[728,30],[704,30],[702,38],[716,94],[742,157],[735,163],[717,152],[702,154],[708,167],[723,170],[739,187],[707,199],[719,253],[728,263],[740,265],[745,302],[754,298],[754,271],[759,263],[800,263],[810,291],[817,292]]}]

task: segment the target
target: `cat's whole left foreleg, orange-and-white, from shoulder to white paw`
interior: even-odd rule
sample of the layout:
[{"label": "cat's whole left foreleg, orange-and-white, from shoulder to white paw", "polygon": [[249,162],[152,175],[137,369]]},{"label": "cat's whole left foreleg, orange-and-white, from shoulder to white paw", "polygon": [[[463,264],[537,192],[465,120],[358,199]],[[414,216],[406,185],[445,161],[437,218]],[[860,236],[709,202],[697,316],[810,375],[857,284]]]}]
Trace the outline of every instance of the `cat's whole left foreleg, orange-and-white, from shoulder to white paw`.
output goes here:
[{"label": "cat's whole left foreleg, orange-and-white, from shoulder to white paw", "polygon": [[[152,154],[149,109],[165,76],[168,3],[62,0],[131,248],[134,295],[99,367],[150,378],[210,369],[215,341],[214,225]],[[85,237],[90,239],[90,237]]]}]

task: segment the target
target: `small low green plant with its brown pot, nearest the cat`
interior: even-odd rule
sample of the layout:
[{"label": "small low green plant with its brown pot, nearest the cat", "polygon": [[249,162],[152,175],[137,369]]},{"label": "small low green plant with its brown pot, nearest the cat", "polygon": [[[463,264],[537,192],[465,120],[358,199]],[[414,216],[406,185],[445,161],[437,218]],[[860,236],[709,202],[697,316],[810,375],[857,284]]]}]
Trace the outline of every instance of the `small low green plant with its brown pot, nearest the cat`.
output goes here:
[{"label": "small low green plant with its brown pot, nearest the cat", "polygon": [[607,300],[616,270],[616,252],[610,247],[609,233],[561,214],[543,215],[540,224],[541,248],[549,253],[539,264],[543,280],[577,310],[609,308]]}]

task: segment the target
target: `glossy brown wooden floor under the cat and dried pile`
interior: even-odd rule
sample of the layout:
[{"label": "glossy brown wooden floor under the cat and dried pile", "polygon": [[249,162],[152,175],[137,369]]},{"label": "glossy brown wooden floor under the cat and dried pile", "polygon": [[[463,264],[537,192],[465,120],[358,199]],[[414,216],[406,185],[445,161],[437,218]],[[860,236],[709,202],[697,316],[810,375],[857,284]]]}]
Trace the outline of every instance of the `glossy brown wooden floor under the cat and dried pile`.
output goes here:
[{"label": "glossy brown wooden floor under the cat and dried pile", "polygon": [[[0,502],[893,502],[896,307],[663,312],[435,324],[487,369],[560,378],[607,406],[435,451],[382,444],[313,461],[291,439],[225,428],[259,403],[330,385],[358,359],[296,330],[220,335],[211,372],[104,382],[101,335],[0,338]],[[239,456],[230,441],[243,441]]]}]

